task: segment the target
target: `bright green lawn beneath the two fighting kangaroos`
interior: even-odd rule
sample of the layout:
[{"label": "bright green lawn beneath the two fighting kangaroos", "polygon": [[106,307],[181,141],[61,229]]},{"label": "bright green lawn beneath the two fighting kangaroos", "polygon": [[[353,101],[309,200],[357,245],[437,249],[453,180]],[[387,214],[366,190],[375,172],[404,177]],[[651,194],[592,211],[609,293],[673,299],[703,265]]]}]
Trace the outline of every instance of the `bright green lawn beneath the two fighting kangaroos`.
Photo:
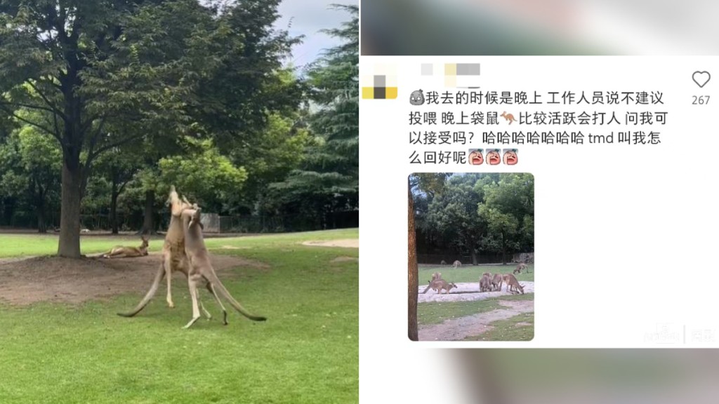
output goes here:
[{"label": "bright green lawn beneath the two fighting kangaroos", "polygon": [[[140,294],[80,306],[0,305],[0,403],[358,403],[358,249],[308,247],[303,240],[357,238],[359,231],[207,239],[211,254],[270,265],[239,267],[224,280],[256,323],[229,310],[229,325],[207,294],[211,321],[191,317],[186,288],[164,283],[134,318]],[[83,237],[83,254],[135,237]],[[0,235],[0,257],[53,254],[55,235]],[[160,251],[160,239],[150,251]],[[234,246],[239,249],[213,249]],[[178,277],[177,279],[180,279]],[[201,291],[203,293],[204,290]]]}]

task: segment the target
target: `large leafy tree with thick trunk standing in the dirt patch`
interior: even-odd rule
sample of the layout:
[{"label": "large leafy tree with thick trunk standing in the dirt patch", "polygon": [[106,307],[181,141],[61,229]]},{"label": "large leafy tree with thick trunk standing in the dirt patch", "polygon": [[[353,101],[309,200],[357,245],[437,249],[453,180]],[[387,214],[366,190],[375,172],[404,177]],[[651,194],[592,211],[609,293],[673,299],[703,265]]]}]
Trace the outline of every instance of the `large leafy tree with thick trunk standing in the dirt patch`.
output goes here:
[{"label": "large leafy tree with thick trunk standing in the dirt patch", "polygon": [[[292,98],[271,92],[294,43],[271,28],[277,4],[0,2],[1,118],[40,129],[63,152],[58,254],[80,257],[81,200],[103,152],[143,137],[248,142]],[[135,130],[109,130],[127,122]]]}]

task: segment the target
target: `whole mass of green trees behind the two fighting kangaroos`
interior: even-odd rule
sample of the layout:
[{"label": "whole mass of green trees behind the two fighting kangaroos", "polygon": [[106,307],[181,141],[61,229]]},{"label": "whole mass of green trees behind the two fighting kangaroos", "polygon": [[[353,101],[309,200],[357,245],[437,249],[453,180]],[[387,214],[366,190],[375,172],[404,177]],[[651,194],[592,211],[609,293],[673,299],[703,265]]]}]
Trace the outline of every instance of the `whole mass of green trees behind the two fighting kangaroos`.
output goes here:
[{"label": "whole mass of green trees behind the two fighting kangaroos", "polygon": [[170,183],[224,213],[356,210],[358,9],[302,74],[278,4],[0,0],[4,216],[44,206],[45,231],[60,206],[58,254],[80,257],[83,209],[116,231],[144,205],[154,231]]}]

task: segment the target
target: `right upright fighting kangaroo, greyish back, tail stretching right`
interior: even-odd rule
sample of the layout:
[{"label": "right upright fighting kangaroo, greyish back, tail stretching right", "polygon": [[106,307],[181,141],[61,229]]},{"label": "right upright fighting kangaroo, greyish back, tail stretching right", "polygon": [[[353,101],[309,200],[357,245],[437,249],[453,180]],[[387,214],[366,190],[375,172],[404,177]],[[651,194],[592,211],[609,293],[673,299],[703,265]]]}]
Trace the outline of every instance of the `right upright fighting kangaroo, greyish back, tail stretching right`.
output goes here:
[{"label": "right upright fighting kangaroo, greyish back, tail stretching right", "polygon": [[[201,281],[205,282],[205,287],[212,293],[217,304],[222,308],[224,315],[224,323],[227,324],[227,311],[222,302],[215,293],[215,288],[219,290],[220,294],[226,298],[229,303],[243,316],[254,321],[265,321],[266,317],[254,316],[247,312],[242,305],[237,303],[237,300],[232,298],[229,291],[222,285],[219,278],[215,274],[215,270],[210,262],[209,253],[207,247],[205,247],[205,240],[202,234],[201,208],[186,209],[182,212],[183,230],[185,231],[185,252],[189,260],[189,271],[188,271],[188,284],[190,287],[190,296],[192,298],[192,319],[184,328],[189,328],[200,318],[200,310],[198,308],[198,302],[200,302],[200,294],[198,293],[197,286]],[[209,316],[209,313],[202,309],[205,314]]]}]

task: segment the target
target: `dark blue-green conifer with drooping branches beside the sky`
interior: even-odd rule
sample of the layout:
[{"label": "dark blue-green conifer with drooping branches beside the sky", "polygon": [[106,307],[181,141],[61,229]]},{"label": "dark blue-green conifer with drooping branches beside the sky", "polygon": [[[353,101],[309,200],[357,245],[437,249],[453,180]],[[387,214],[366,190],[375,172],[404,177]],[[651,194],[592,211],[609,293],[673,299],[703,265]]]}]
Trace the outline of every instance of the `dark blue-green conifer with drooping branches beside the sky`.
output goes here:
[{"label": "dark blue-green conifer with drooping branches beside the sky", "polygon": [[306,150],[302,167],[271,185],[286,213],[313,213],[319,221],[330,211],[359,207],[359,8],[334,7],[348,12],[350,19],[323,32],[343,43],[326,50],[307,71],[317,108],[308,124],[317,139]]}]

